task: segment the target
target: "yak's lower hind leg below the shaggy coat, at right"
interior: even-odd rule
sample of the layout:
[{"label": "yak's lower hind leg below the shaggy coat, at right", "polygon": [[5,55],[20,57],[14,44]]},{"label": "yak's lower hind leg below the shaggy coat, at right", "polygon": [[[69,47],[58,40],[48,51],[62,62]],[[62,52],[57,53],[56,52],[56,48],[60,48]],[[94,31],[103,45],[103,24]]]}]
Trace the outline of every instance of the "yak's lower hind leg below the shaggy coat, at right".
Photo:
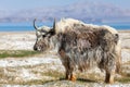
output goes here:
[{"label": "yak's lower hind leg below the shaggy coat, at right", "polygon": [[115,77],[115,72],[106,72],[106,76],[105,76],[105,83],[107,84],[114,84],[114,77]]}]

